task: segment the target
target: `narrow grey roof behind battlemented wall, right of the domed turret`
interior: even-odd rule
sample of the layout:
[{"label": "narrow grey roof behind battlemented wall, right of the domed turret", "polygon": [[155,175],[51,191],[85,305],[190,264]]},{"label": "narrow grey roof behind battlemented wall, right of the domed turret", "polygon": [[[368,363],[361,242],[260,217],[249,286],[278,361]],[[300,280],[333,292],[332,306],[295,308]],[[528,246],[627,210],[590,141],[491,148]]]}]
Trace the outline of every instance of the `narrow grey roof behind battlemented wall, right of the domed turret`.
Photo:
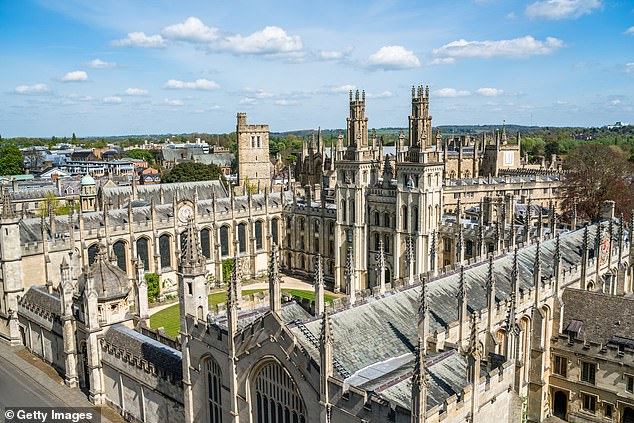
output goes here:
[{"label": "narrow grey roof behind battlemented wall, right of the domed turret", "polygon": [[183,378],[181,352],[145,336],[122,324],[111,326],[104,334],[107,342],[153,364],[171,374],[174,380]]}]

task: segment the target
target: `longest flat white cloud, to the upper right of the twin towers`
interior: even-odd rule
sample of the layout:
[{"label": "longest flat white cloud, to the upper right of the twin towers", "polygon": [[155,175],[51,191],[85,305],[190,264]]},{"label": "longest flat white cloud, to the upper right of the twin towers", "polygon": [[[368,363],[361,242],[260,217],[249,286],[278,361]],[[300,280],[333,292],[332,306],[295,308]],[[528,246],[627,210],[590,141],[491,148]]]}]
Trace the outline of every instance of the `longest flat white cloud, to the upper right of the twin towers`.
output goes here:
[{"label": "longest flat white cloud, to the upper right of the twin towers", "polygon": [[540,41],[527,35],[510,40],[467,41],[457,40],[435,49],[434,54],[454,58],[515,57],[526,58],[535,55],[551,54],[564,47],[563,41],[547,37]]}]

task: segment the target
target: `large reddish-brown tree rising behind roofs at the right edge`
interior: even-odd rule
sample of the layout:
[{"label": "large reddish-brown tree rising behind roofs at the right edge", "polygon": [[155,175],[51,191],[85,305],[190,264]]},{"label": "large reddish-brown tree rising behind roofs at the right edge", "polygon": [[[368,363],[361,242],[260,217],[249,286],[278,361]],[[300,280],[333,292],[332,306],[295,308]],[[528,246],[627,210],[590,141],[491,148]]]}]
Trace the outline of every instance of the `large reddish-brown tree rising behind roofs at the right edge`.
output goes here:
[{"label": "large reddish-brown tree rising behind roofs at the right edge", "polygon": [[612,200],[617,213],[629,216],[634,208],[634,164],[620,147],[582,144],[568,155],[564,166],[569,172],[562,185],[564,210],[570,213],[576,201],[579,217],[597,220],[601,203]]}]

